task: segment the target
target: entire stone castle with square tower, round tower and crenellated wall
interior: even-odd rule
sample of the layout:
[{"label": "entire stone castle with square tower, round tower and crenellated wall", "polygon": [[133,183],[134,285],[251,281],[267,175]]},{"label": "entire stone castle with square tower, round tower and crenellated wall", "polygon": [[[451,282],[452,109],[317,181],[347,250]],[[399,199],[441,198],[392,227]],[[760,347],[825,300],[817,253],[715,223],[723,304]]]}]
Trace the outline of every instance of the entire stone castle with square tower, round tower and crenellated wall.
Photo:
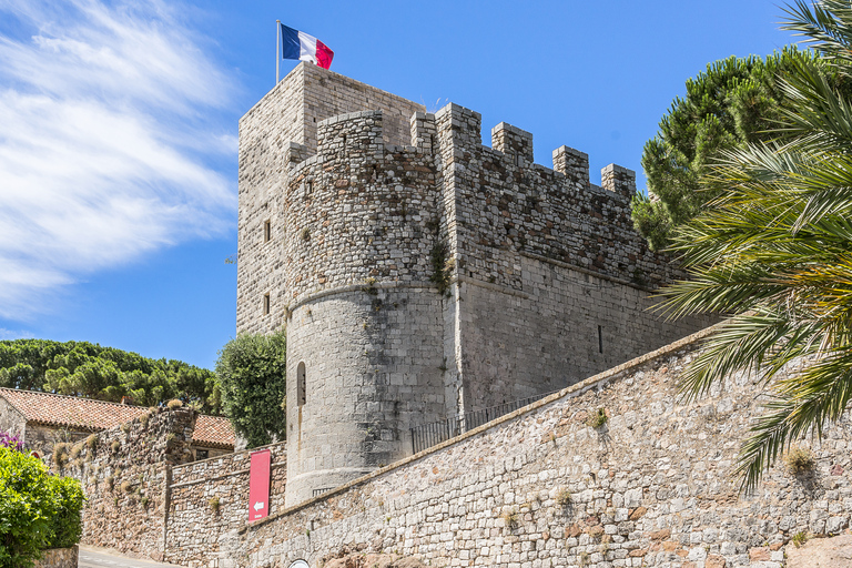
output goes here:
[{"label": "entire stone castle with square tower, round tower and crenellated wall", "polygon": [[[635,174],[307,63],[240,122],[237,332],[287,334],[287,504],[412,452],[409,428],[562,388],[703,327],[633,232]],[[268,231],[265,229],[268,223]],[[265,314],[268,305],[268,314]],[[293,404],[300,400],[300,404]]]}]

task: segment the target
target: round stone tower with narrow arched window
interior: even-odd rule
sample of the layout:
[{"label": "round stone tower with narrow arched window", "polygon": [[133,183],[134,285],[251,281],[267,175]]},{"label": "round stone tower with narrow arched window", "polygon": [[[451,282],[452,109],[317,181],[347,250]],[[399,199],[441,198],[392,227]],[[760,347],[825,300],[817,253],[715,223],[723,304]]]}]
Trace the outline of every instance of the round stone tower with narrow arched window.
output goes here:
[{"label": "round stone tower with narrow arched window", "polygon": [[288,172],[287,506],[410,454],[409,427],[446,416],[435,175],[430,151],[385,146],[379,111],[321,122]]}]

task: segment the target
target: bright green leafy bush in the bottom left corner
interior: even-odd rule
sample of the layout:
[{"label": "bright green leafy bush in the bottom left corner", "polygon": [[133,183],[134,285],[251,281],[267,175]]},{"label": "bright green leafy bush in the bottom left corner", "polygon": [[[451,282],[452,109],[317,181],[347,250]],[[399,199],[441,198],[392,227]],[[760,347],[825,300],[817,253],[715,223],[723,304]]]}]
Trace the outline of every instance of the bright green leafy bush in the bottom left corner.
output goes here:
[{"label": "bright green leafy bush in the bottom left corner", "polygon": [[0,568],[30,567],[41,550],[77,544],[83,503],[77,479],[52,476],[40,459],[0,447]]}]

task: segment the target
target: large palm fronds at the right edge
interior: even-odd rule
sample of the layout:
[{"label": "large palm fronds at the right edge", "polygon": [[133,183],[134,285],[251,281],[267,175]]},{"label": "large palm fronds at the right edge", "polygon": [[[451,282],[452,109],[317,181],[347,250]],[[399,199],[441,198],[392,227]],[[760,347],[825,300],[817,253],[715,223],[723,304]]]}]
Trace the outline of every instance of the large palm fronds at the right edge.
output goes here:
[{"label": "large palm fronds at the right edge", "polygon": [[834,81],[852,77],[852,9],[785,11],[784,29],[824,59],[783,75],[783,144],[751,142],[710,166],[717,197],[676,236],[692,277],[663,292],[676,316],[731,315],[686,371],[688,397],[740,371],[772,394],[741,448],[746,489],[792,440],[821,437],[852,396],[852,103]]}]

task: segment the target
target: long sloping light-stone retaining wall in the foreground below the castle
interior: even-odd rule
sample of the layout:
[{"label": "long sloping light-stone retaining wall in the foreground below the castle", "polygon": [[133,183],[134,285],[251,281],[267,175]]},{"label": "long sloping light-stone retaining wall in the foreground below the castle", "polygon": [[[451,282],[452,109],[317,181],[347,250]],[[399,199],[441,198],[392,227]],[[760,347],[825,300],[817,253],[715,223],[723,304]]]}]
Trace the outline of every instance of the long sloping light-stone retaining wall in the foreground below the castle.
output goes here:
[{"label": "long sloping light-stone retaining wall in the foreground below the castle", "polygon": [[850,526],[852,416],[797,442],[811,470],[781,460],[740,494],[737,453],[768,397],[736,375],[680,404],[701,335],[245,526],[187,566],[318,568],[361,551],[437,567],[781,568],[798,532]]}]

